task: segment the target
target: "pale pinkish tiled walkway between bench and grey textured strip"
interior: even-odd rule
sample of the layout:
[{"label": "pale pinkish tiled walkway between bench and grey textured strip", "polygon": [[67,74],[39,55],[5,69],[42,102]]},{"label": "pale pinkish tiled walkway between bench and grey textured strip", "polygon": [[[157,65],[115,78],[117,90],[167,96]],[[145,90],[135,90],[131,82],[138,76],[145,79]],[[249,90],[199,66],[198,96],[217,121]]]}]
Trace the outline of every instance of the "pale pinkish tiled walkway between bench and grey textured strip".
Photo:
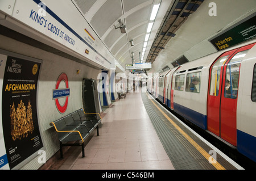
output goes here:
[{"label": "pale pinkish tiled walkway between bench and grey textured strip", "polygon": [[85,146],[85,157],[71,157],[59,169],[174,169],[140,92],[126,94],[104,112],[100,136]]}]

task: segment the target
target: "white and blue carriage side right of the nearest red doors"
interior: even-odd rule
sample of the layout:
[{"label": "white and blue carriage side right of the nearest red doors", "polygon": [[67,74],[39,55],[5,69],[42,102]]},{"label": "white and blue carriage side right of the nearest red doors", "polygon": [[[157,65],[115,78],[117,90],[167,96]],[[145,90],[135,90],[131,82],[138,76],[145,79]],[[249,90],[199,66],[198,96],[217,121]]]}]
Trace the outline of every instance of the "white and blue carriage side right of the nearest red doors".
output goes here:
[{"label": "white and blue carriage side right of the nearest red doors", "polygon": [[241,62],[237,100],[237,150],[256,162],[256,45]]}]

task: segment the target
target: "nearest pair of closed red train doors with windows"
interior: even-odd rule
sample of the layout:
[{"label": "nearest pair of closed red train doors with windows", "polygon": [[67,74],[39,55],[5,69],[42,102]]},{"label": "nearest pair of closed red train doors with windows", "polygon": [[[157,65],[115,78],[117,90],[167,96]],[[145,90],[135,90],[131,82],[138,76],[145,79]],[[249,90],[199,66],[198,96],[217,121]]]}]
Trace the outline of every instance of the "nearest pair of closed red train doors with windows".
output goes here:
[{"label": "nearest pair of closed red train doors with windows", "polygon": [[234,146],[237,145],[237,95],[240,64],[253,45],[222,54],[210,68],[207,103],[208,130]]}]

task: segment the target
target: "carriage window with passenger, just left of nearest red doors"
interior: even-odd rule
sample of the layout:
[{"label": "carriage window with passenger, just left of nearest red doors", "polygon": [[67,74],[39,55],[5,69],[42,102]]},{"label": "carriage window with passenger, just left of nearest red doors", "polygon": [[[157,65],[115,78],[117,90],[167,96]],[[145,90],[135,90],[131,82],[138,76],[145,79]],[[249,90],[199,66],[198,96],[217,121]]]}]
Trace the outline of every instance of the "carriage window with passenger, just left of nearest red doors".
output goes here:
[{"label": "carriage window with passenger, just left of nearest red doors", "polygon": [[187,74],[186,91],[199,93],[201,85],[200,79],[201,71]]}]

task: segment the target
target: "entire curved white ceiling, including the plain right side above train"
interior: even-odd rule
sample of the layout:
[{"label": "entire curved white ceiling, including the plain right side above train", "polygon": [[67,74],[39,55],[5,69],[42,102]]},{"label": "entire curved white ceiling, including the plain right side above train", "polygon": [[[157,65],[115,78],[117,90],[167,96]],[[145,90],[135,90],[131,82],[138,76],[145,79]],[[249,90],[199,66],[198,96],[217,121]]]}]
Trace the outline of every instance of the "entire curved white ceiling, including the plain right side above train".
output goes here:
[{"label": "entire curved white ceiling, including the plain right side above train", "polygon": [[[171,68],[176,58],[188,61],[216,49],[207,41],[255,12],[255,0],[214,0],[217,16],[210,16],[210,0],[72,0],[119,64],[154,62],[151,71]],[[150,20],[154,5],[159,10]],[[153,22],[143,56],[148,24]],[[125,32],[120,27],[125,26]],[[173,38],[173,39],[172,39]],[[131,46],[130,40],[134,45]],[[197,48],[197,49],[196,49]],[[195,53],[196,52],[196,53]],[[134,61],[133,61],[134,53]]]}]

